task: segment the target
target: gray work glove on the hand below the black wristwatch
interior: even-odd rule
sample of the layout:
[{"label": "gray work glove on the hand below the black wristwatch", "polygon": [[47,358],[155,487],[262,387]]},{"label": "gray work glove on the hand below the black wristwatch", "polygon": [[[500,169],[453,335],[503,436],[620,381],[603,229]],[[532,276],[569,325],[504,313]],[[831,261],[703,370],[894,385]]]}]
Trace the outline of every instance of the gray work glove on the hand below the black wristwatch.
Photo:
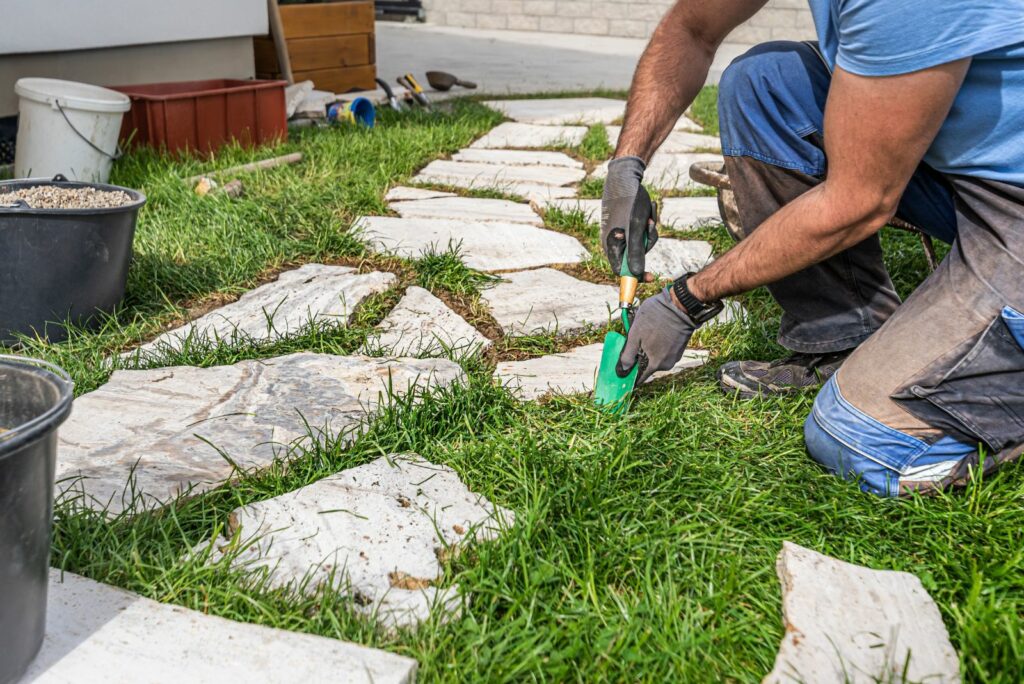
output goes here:
[{"label": "gray work glove on the hand below the black wristwatch", "polygon": [[637,386],[640,386],[654,372],[668,371],[679,362],[696,329],[686,312],[672,301],[669,288],[662,290],[637,309],[615,373],[625,378],[639,364]]}]

